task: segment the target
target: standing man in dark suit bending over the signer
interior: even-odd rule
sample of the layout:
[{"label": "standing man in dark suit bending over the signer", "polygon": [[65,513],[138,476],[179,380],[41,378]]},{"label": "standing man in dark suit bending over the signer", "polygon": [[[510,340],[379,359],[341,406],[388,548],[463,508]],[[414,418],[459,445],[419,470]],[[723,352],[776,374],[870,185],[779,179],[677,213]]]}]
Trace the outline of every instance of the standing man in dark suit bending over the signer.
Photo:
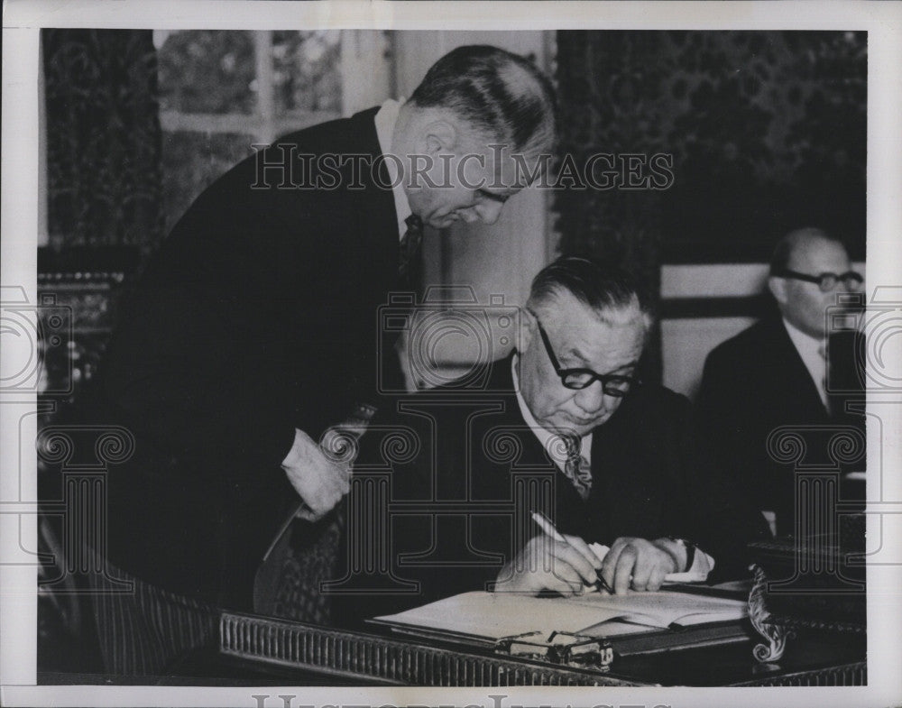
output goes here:
[{"label": "standing man in dark suit bending over the signer", "polygon": [[110,670],[154,673],[211,636],[213,608],[250,610],[286,514],[342,499],[349,471],[317,441],[373,399],[378,306],[424,223],[491,224],[526,186],[514,156],[550,150],[554,103],[529,61],[461,47],[407,102],[292,133],[189,207],[87,406],[136,441],[107,486],[111,574],[136,587],[98,596]]}]

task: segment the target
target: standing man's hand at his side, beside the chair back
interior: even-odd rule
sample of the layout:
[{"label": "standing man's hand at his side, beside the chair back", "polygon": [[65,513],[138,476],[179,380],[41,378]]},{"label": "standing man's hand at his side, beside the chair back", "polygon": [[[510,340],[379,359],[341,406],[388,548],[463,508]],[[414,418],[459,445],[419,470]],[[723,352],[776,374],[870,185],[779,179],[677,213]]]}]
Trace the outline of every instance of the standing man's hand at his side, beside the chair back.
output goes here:
[{"label": "standing man's hand at his side, beside the chair back", "polygon": [[295,429],[294,444],[281,466],[309,507],[299,516],[309,521],[321,519],[348,492],[351,468],[330,460],[303,430]]}]

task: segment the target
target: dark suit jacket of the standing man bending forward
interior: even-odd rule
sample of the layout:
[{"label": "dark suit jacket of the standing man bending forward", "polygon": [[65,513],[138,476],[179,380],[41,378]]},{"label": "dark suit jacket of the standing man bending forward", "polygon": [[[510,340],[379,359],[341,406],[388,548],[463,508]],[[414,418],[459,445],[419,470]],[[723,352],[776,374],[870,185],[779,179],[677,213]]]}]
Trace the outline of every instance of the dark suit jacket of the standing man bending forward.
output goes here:
[{"label": "dark suit jacket of the standing man bending forward", "polygon": [[288,170],[314,156],[311,184],[317,156],[372,164],[375,111],[282,138],[265,152],[281,167],[235,166],[143,272],[82,418],[136,438],[107,485],[108,556],[133,575],[249,608],[254,569],[299,502],[280,467],[294,429],[318,439],[373,397],[377,308],[398,277],[391,191],[352,161],[323,174],[331,189],[293,188]]}]

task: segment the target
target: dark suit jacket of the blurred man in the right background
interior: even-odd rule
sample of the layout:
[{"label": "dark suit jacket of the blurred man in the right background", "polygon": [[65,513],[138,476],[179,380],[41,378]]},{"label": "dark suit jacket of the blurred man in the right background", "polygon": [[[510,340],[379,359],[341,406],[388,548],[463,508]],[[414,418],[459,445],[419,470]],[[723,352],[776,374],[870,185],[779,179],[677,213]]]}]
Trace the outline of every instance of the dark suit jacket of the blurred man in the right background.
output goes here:
[{"label": "dark suit jacket of the blurred man in the right background", "polygon": [[[831,337],[831,379],[841,383],[842,390],[861,388],[853,371],[858,358],[853,347],[860,345],[861,339],[851,333]],[[805,464],[831,464],[827,437],[837,427],[863,430],[863,416],[841,412],[846,401],[855,398],[831,396],[834,413],[829,413],[781,318],[772,315],[708,354],[695,402],[699,437],[706,441],[713,468],[728,483],[737,485],[759,510],[776,512],[782,536],[793,533],[794,465],[769,455],[771,431],[781,426],[809,428],[803,433]],[[814,426],[824,427],[823,432]],[[863,469],[863,463],[859,466]]]}]

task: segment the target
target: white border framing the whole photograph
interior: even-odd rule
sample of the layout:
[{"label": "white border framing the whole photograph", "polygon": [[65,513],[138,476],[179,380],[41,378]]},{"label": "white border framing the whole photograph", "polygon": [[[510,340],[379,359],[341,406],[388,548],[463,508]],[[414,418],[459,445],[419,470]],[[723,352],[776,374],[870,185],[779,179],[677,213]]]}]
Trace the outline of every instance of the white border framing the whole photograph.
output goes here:
[{"label": "white border framing the whole photograph", "polygon": [[[902,295],[902,3],[866,2],[430,2],[322,0],[7,0],[3,29],[2,271],[5,286],[36,296],[38,234],[38,55],[41,27],[146,29],[686,29],[856,30],[868,32],[868,298],[880,285]],[[514,10],[516,12],[514,12]],[[889,290],[885,291],[889,292]],[[902,346],[891,343],[888,371],[902,371]],[[22,343],[27,346],[28,343]],[[17,352],[0,353],[0,367]],[[784,705],[902,703],[902,395],[869,394],[883,437],[869,427],[869,469],[882,464],[882,485],[869,483],[870,538],[882,538],[884,565],[868,567],[868,685],[855,688],[300,688],[266,686],[34,685],[36,582],[33,566],[0,565],[0,704],[258,705],[254,694],[297,695],[293,705]],[[0,399],[0,558],[16,550],[20,531],[36,547],[36,460],[20,454],[20,436],[36,432],[34,396]],[[875,466],[876,465],[876,466]],[[31,511],[30,511],[31,510]],[[494,698],[492,696],[495,696]],[[503,696],[503,698],[499,698]]]}]

